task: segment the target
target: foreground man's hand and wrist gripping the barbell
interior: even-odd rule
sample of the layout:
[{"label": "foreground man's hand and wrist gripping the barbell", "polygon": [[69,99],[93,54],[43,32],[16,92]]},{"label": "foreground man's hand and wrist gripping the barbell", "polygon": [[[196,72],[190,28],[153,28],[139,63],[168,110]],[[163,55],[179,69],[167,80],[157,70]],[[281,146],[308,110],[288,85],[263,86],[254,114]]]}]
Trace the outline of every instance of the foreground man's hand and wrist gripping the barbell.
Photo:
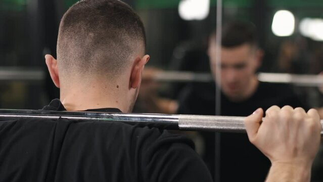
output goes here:
[{"label": "foreground man's hand and wrist gripping the barbell", "polygon": [[245,119],[245,125],[250,142],[271,161],[267,180],[280,177],[282,181],[284,176],[309,180],[322,127],[317,111],[272,106],[262,116],[258,109]]}]

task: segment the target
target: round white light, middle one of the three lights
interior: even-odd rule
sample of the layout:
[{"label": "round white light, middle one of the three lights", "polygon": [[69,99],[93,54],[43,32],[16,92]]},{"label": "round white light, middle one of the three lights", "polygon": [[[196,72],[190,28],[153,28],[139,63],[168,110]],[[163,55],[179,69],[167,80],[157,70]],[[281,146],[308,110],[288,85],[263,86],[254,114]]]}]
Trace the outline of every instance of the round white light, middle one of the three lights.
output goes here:
[{"label": "round white light, middle one of the three lights", "polygon": [[275,13],[271,30],[276,36],[290,36],[294,33],[295,17],[292,12],[280,10]]}]

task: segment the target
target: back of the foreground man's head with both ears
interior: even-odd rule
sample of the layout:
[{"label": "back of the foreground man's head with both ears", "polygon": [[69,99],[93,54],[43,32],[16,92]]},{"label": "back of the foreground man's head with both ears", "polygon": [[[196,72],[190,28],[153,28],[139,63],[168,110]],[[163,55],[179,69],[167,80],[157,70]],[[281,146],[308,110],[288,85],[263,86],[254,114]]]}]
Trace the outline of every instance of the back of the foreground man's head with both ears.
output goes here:
[{"label": "back of the foreground man's head with both ears", "polygon": [[116,85],[127,87],[136,97],[149,59],[144,56],[145,47],[143,22],[128,5],[117,0],[84,0],[64,14],[57,61],[47,56],[46,62],[54,83],[61,87],[61,99],[72,85],[89,88],[94,83],[111,92]]}]

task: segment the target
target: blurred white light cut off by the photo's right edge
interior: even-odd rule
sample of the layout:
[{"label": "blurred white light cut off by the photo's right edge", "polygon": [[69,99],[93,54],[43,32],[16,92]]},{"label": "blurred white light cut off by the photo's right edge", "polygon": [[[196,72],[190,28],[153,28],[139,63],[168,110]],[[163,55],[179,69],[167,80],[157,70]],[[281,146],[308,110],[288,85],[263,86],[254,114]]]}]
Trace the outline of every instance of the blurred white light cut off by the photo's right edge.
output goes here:
[{"label": "blurred white light cut off by the photo's right edge", "polygon": [[299,31],[303,36],[316,41],[323,41],[323,19],[304,18],[299,24]]}]

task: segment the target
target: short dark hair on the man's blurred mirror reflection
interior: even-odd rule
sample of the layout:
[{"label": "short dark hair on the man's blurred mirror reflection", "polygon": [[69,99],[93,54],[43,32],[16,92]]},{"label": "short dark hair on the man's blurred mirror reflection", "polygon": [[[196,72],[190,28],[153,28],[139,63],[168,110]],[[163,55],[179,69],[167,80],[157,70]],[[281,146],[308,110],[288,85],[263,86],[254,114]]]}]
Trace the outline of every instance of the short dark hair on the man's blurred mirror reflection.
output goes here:
[{"label": "short dark hair on the man's blurred mirror reflection", "polygon": [[234,48],[245,43],[258,47],[257,29],[253,23],[236,20],[223,25],[222,47]]}]

